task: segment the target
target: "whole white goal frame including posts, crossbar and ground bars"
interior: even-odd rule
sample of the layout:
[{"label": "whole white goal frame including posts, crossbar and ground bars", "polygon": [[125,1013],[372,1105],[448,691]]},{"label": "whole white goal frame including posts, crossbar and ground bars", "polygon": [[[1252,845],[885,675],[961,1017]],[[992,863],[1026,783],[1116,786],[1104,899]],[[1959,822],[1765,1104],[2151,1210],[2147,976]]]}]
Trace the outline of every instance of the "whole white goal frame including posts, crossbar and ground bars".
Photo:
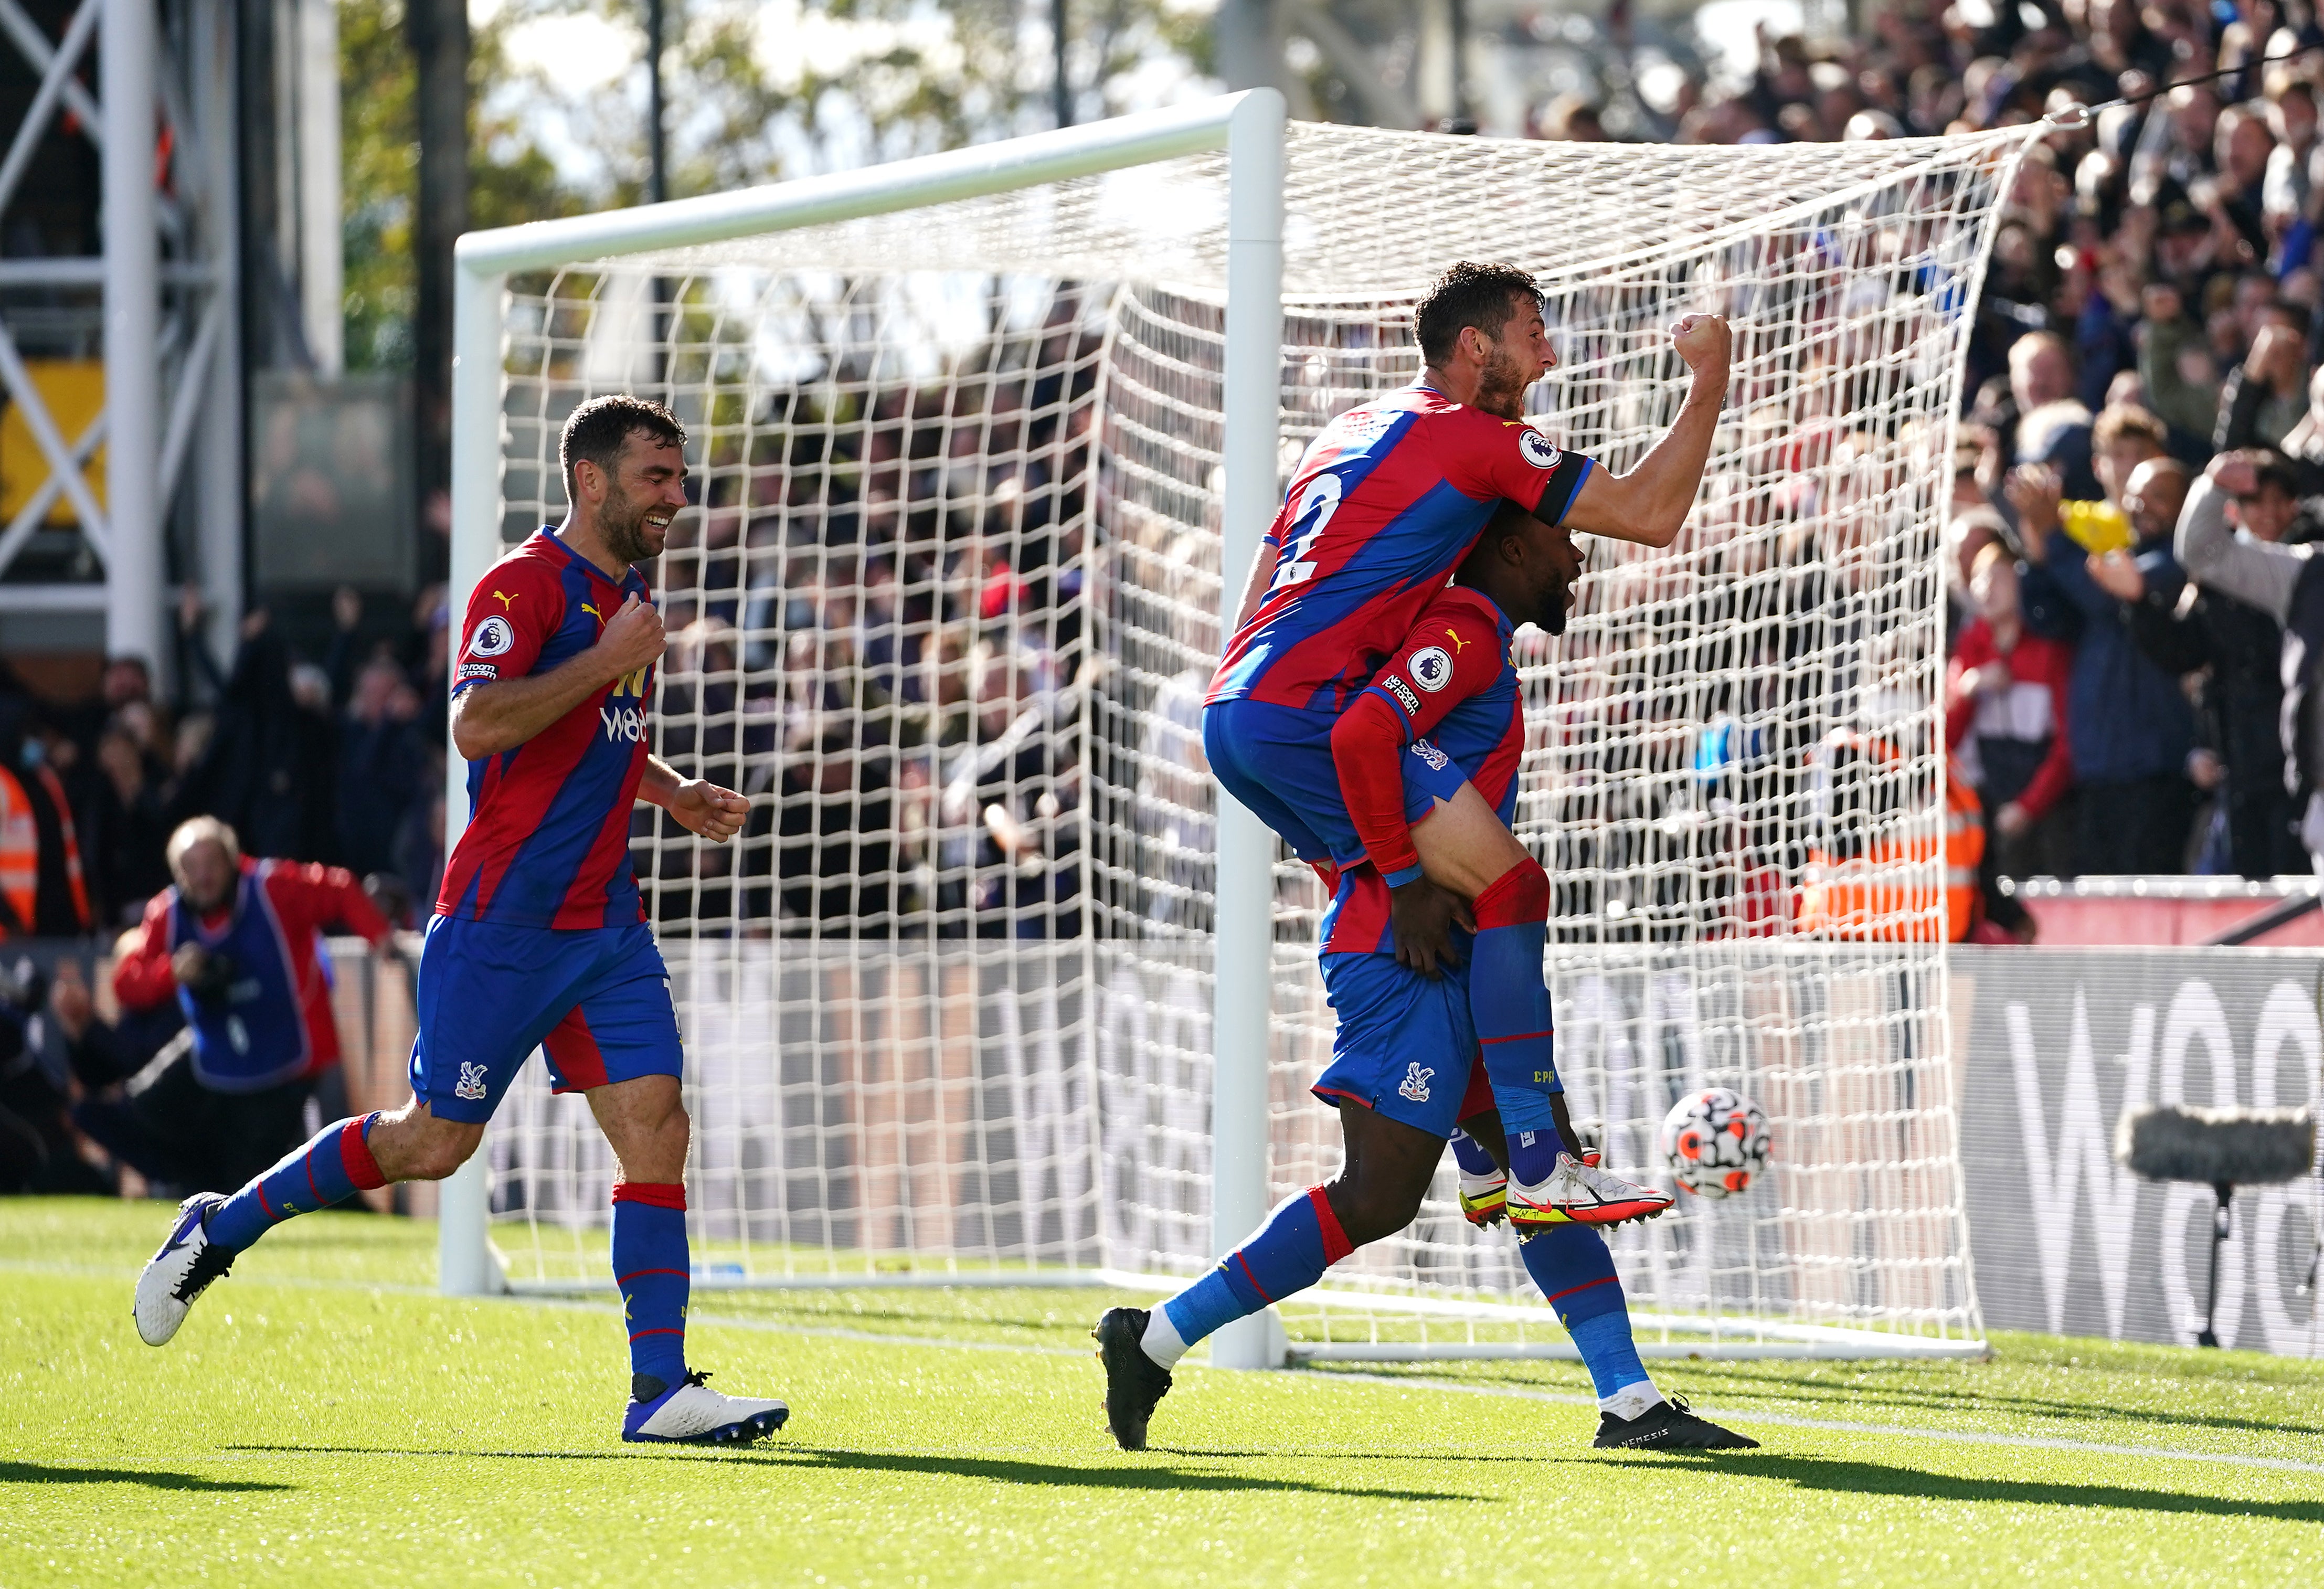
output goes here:
[{"label": "whole white goal frame including posts, crossbar and ground bars", "polygon": [[[476,581],[504,553],[502,469],[507,460],[509,395],[514,376],[507,369],[511,274],[558,267],[590,267],[616,260],[641,260],[679,249],[774,237],[797,228],[862,221],[962,200],[995,197],[1048,184],[1097,177],[1143,165],[1183,160],[1188,156],[1222,156],[1227,179],[1227,253],[1225,253],[1225,323],[1220,339],[1220,409],[1222,444],[1218,451],[1218,544],[1220,588],[1218,623],[1229,632],[1241,602],[1239,576],[1257,558],[1267,525],[1281,504],[1281,441],[1285,418],[1285,209],[1292,190],[1290,156],[1301,135],[1287,123],[1283,95],[1248,91],[1164,112],[1122,116],[1116,121],[1039,132],[1032,137],[899,160],[862,172],[811,177],[741,193],[704,195],[667,204],[616,209],[595,216],[544,221],[518,228],[469,232],[456,246],[453,295],[453,479],[451,479],[451,581],[449,597],[465,613]],[[1943,139],[1929,139],[1938,144]],[[1996,139],[1987,139],[1999,146]],[[2024,153],[2020,139],[2006,151],[1989,179],[2008,190]],[[1215,170],[1215,167],[1213,167]],[[1885,181],[1885,179],[1880,179]],[[1878,181],[1866,181],[1871,190]],[[1859,188],[1841,186],[1838,197]],[[1817,204],[1838,202],[1820,197]],[[1799,200],[1785,200],[1799,209]],[[1999,200],[1989,200],[1989,207]],[[1783,214],[1792,214],[1785,209]],[[1213,211],[1215,214],[1215,211]],[[1724,211],[1722,211],[1724,214]],[[1736,218],[1741,223],[1741,218]],[[1215,221],[1211,223],[1215,225]],[[1959,263],[1959,281],[1982,283],[1992,246],[1992,216],[1975,221],[1973,260]],[[1301,232],[1304,235],[1304,232]],[[1211,232],[1215,237],[1215,232]],[[1215,256],[1213,256],[1215,258]],[[644,263],[660,272],[662,265]],[[1218,281],[1215,276],[1206,276]],[[1218,302],[1218,300],[1211,300]],[[1301,297],[1299,302],[1308,302]],[[1950,393],[1957,400],[1964,346],[1950,353]],[[1297,414],[1292,416],[1297,418]],[[1929,416],[1931,420],[1936,416]],[[1950,441],[1957,402],[1943,416]],[[456,750],[446,757],[446,834],[456,839],[467,820],[465,764]],[[1234,799],[1215,806],[1215,883],[1211,936],[1211,1215],[1208,1252],[1227,1254],[1264,1217],[1271,1203],[1269,1180],[1269,1099],[1276,1004],[1276,841],[1255,813]],[[1943,987],[1943,952],[1938,950],[1936,987]],[[1920,1008],[1929,1008],[1922,1004]],[[1936,1043],[1950,1048],[1950,1011],[1943,994],[1929,1011]],[[1199,1097],[1199,1094],[1197,1094]],[[1957,1122],[1954,1122],[1957,1129]],[[1954,1136],[1954,1175],[1959,1141]],[[572,1282],[551,1278],[509,1278],[490,1241],[490,1169],[476,1155],[442,1187],[439,1285],[449,1296],[481,1294],[572,1294],[602,1292],[607,1280]],[[1959,1227],[1966,1243],[1966,1229]],[[1199,1227],[1197,1227],[1199,1229]],[[1192,1243],[1183,1243],[1192,1245]],[[1181,1257],[1185,1252],[1181,1250]],[[1966,1248],[1961,1261],[1966,1264]],[[865,1275],[746,1275],[713,1280],[718,1289],[818,1289],[832,1285],[881,1287],[976,1287],[976,1285],[1095,1285],[1120,1289],[1176,1289],[1176,1280],[1125,1273],[1116,1268],[1064,1271],[957,1271],[939,1273],[865,1273]],[[1636,1313],[1643,1331],[1664,1336],[1708,1331],[1710,1340],[1641,1343],[1645,1357],[1982,1357],[1982,1324],[1968,1285],[1968,1333],[1936,1338],[1882,1329],[1808,1324],[1801,1320],[1743,1324],[1724,1338],[1717,1313],[1708,1320],[1690,1315]],[[1318,1289],[1325,1308],[1378,1308],[1387,1315],[1436,1315],[1450,1322],[1548,1324],[1545,1308],[1455,1301],[1434,1296],[1392,1296],[1369,1289]],[[1576,1357],[1569,1340],[1480,1343],[1473,1338],[1427,1340],[1406,1345],[1380,1340],[1325,1340],[1292,1345],[1276,1313],[1229,1324],[1211,1336],[1211,1361],[1222,1368],[1269,1368],[1301,1361],[1436,1361],[1436,1359],[1566,1359]]]}]

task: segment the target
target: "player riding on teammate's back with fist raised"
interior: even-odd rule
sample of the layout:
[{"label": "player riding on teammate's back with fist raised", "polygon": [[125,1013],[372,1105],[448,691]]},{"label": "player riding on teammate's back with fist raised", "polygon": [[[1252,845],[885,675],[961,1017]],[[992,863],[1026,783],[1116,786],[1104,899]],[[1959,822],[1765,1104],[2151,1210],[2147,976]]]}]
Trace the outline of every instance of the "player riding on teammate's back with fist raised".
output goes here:
[{"label": "player riding on teammate's back with fist raised", "polygon": [[[1322,869],[1364,855],[1329,755],[1339,713],[1443,590],[1497,502],[1666,546],[1694,502],[1727,388],[1724,321],[1683,318],[1671,341],[1694,390],[1638,469],[1615,476],[1515,418],[1525,388],[1555,365],[1532,276],[1455,265],[1420,300],[1413,330],[1422,379],[1332,420],[1301,460],[1204,704],[1220,783]],[[1415,864],[1387,883],[1399,929],[1434,920],[1441,936],[1455,901],[1439,883],[1473,901],[1469,999],[1511,1129],[1511,1217],[1615,1222],[1666,1208],[1669,1196],[1583,1164],[1559,1141],[1541,1080],[1552,1073],[1541,864],[1476,790],[1455,790]]]}]

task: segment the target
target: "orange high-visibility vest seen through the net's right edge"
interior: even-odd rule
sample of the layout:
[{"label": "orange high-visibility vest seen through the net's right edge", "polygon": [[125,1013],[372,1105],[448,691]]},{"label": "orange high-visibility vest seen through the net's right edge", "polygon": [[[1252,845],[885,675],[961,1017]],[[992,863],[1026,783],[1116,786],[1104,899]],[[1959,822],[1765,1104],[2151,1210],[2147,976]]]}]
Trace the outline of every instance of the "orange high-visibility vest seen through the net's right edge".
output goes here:
[{"label": "orange high-visibility vest seen through the net's right edge", "polygon": [[[1859,750],[1894,760],[1894,750],[1859,743]],[[1799,932],[1873,943],[1936,943],[1934,839],[1873,839],[1864,855],[1834,860],[1808,850],[1808,873],[1799,887]],[[1985,860],[1985,811],[1959,767],[1945,767],[1945,941],[1968,939],[1985,913],[1978,864]]]}]

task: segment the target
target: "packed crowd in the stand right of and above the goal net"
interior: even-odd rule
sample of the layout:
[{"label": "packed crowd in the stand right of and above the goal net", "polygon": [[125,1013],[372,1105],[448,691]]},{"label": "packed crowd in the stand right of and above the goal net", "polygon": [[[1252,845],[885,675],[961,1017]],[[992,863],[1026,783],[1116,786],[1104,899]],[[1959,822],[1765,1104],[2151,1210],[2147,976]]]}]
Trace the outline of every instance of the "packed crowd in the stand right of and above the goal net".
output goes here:
[{"label": "packed crowd in the stand right of and above the goal net", "polygon": [[2243,532],[2324,534],[2319,46],[2298,2],[1903,2],[1843,46],[1764,39],[1673,116],[1727,144],[2061,123],[2001,216],[1948,537],[1948,736],[2001,876],[2308,871],[2280,630],[2171,537],[2219,453],[2254,465]]}]

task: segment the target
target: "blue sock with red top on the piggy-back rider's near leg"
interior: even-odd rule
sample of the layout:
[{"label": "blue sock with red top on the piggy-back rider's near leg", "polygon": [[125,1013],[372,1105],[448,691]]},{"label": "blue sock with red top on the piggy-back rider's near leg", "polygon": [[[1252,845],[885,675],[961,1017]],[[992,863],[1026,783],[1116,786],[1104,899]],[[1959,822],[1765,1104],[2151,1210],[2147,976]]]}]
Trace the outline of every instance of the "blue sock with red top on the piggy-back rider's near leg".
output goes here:
[{"label": "blue sock with red top on the piggy-back rider's near leg", "polygon": [[1469,1015],[1485,1048],[1492,1101],[1508,1134],[1508,1171],[1538,1185],[1564,1143],[1550,1113],[1559,1090],[1550,990],[1541,980],[1548,943],[1550,876],[1525,860],[1476,897],[1476,946],[1469,950]]}]

